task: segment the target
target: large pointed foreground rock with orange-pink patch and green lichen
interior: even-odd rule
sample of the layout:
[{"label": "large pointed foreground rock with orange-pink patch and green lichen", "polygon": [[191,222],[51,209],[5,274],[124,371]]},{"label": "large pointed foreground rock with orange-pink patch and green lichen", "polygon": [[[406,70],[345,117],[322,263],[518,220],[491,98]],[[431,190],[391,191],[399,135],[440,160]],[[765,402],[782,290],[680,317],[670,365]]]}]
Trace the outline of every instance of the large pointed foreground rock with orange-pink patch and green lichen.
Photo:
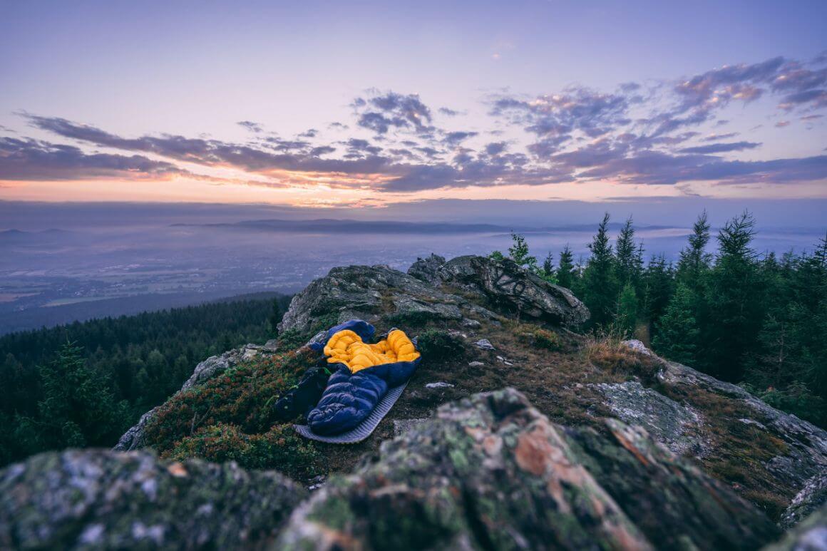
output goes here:
[{"label": "large pointed foreground rock with orange-pink patch and green lichen", "polygon": [[329,480],[275,549],[743,549],[777,538],[729,488],[612,423],[610,438],[563,429],[512,389],[443,405]]}]

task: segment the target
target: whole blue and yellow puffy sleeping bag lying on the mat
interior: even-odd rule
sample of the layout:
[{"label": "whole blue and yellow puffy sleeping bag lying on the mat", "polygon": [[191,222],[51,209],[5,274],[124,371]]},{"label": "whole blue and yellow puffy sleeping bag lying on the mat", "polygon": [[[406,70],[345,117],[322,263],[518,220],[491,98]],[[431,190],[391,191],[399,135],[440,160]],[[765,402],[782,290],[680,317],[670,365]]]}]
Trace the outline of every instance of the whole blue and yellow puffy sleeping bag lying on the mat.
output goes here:
[{"label": "whole blue and yellow puffy sleeping bag lying on the mat", "polygon": [[[370,326],[371,335],[372,329]],[[327,380],[322,399],[308,414],[308,425],[316,434],[340,434],[356,427],[388,389],[407,381],[419,364],[414,343],[399,329],[375,344],[366,343],[360,333],[366,331],[345,328],[327,340],[324,354],[336,371]]]}]

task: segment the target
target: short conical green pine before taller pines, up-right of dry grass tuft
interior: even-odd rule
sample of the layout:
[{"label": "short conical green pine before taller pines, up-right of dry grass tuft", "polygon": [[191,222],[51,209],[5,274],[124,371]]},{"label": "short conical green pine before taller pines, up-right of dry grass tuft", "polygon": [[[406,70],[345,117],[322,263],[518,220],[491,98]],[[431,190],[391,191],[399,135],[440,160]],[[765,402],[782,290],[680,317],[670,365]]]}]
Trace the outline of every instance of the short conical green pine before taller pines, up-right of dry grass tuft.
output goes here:
[{"label": "short conical green pine before taller pines, up-right of dry grass tuft", "polygon": [[652,346],[658,354],[674,362],[696,365],[700,331],[692,309],[695,295],[683,283],[675,289],[666,312],[657,323]]}]

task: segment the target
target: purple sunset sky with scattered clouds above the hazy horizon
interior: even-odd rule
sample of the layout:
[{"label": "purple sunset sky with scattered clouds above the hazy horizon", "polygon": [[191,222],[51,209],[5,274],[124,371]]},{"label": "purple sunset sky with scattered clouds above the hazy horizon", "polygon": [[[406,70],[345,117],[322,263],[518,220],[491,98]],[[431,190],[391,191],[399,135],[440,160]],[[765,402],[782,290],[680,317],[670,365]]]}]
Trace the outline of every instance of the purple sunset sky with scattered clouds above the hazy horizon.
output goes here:
[{"label": "purple sunset sky with scattered clouds above the hazy horizon", "polygon": [[4,202],[823,223],[823,1],[0,0],[0,50]]}]

